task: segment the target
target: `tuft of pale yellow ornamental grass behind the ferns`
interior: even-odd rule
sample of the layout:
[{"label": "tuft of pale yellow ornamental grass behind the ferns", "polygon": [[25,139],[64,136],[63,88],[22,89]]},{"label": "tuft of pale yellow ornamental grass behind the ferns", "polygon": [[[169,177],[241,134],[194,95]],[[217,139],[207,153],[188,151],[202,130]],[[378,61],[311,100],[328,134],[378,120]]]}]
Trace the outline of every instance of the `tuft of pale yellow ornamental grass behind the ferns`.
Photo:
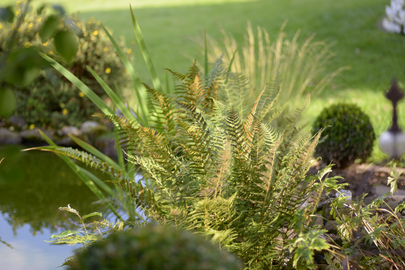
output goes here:
[{"label": "tuft of pale yellow ornamental grass behind the ferns", "polygon": [[318,96],[334,77],[348,68],[342,67],[324,74],[327,62],[333,57],[330,51],[333,43],[314,41],[315,34],[312,34],[300,44],[297,42],[300,30],[289,40],[283,31],[285,26],[286,21],[272,42],[264,28],[257,26],[256,36],[252,24],[248,22],[241,49],[238,49],[235,38],[222,30],[222,43],[209,38],[209,61],[213,62],[223,55],[225,63],[232,63],[232,72],[248,77],[249,87],[255,92],[260,91],[266,83],[278,83],[281,89],[280,104],[290,101],[290,106],[294,106],[305,93]]}]

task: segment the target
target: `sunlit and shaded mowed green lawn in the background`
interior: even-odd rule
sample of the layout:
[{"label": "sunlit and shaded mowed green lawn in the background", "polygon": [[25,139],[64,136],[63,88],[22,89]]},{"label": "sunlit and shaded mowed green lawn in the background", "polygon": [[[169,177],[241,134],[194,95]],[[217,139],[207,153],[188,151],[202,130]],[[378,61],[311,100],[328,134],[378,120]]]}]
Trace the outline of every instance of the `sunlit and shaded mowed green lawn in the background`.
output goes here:
[{"label": "sunlit and shaded mowed green lawn in the background", "polygon": [[[0,0],[4,4],[6,0]],[[125,36],[134,52],[134,66],[141,80],[149,74],[137,45],[128,0],[59,0],[69,12],[80,11],[82,19],[95,17],[114,30],[115,38]],[[164,68],[186,72],[193,59],[202,62],[198,41],[207,34],[220,40],[221,29],[243,43],[247,21],[262,26],[275,39],[288,20],[285,32],[299,40],[316,33],[315,40],[336,43],[335,57],[327,73],[349,66],[335,78],[317,100],[311,102],[305,118],[313,121],[322,108],[337,101],[354,102],[370,116],[377,135],[390,125],[390,103],[384,91],[396,76],[405,83],[405,36],[383,32],[380,21],[389,0],[130,0],[145,36],[155,68],[162,81]],[[39,0],[34,4],[41,3]],[[135,45],[134,45],[135,44]],[[405,128],[405,107],[399,111]],[[381,153],[377,144],[373,156]]]}]

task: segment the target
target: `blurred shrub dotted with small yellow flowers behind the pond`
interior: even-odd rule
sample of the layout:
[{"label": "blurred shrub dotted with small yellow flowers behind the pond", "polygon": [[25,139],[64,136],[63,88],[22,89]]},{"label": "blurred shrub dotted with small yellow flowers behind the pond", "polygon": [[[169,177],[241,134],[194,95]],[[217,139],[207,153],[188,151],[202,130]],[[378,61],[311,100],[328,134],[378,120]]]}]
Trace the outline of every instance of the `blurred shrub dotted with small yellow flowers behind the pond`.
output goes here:
[{"label": "blurred shrub dotted with small yellow flowers behind the pond", "polygon": [[[23,4],[18,1],[17,15],[22,11]],[[49,18],[56,18],[60,32],[75,33],[77,37],[77,53],[70,62],[66,60],[66,55],[63,57],[56,52],[58,48],[55,47],[58,47],[58,44],[53,43],[53,38],[48,39],[45,43],[42,42],[44,36],[45,40],[47,39],[43,26],[45,22],[49,24]],[[16,23],[17,20],[12,23],[1,22],[0,55],[6,51],[7,41]],[[111,33],[111,30],[109,32]],[[122,38],[119,45],[122,47],[125,45]],[[19,51],[27,48],[35,48],[52,57],[75,76],[81,78],[99,96],[102,96],[104,91],[87,71],[86,65],[100,74],[110,86],[113,86],[114,81],[120,87],[127,82],[124,66],[104,33],[100,21],[96,21],[94,18],[89,21],[79,21],[77,16],[66,17],[63,14],[55,16],[47,9],[37,11],[31,9],[18,29],[12,49]],[[55,72],[53,68],[43,68],[39,72],[32,72],[32,76],[34,76],[34,79],[30,80],[32,83],[26,85],[18,85],[14,81],[1,83],[1,88],[6,88],[11,84],[17,85],[13,86],[17,97],[16,114],[25,117],[28,125],[45,125],[54,128],[60,128],[63,125],[80,125],[97,111],[96,106],[83,93],[59,72]],[[21,80],[15,81],[21,82]]]}]

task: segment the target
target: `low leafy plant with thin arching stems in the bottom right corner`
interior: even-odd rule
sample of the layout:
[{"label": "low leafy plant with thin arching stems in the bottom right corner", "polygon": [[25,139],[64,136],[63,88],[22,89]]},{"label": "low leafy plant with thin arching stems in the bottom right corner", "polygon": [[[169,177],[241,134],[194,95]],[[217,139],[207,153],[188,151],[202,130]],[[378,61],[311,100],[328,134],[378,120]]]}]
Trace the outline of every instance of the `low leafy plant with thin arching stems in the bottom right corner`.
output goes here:
[{"label": "low leafy plant with thin arching stems in the bottom right corner", "polygon": [[[398,192],[397,182],[401,179],[401,173],[394,164],[388,177],[391,195]],[[337,191],[336,188],[330,190]],[[331,200],[331,215],[334,213],[336,216],[337,235],[342,243],[334,256],[325,254],[325,259],[332,269],[403,269],[405,219],[400,212],[405,209],[405,203],[402,201],[392,209],[386,203],[389,195],[386,193],[364,204],[366,195],[362,194],[356,200],[348,200],[344,196]],[[339,210],[342,207],[348,209],[346,215]],[[356,237],[354,232],[362,232],[363,236]]]}]

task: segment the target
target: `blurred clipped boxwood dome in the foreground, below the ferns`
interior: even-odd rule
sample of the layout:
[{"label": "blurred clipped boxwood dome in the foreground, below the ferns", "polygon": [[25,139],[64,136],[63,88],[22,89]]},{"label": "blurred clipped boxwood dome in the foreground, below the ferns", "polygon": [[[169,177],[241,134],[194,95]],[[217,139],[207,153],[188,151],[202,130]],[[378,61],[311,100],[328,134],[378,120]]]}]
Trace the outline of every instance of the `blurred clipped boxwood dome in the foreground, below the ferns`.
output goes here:
[{"label": "blurred clipped boxwood dome in the foreground, below the ferns", "polygon": [[240,270],[243,263],[205,237],[148,226],[111,234],[77,254],[75,270]]}]

